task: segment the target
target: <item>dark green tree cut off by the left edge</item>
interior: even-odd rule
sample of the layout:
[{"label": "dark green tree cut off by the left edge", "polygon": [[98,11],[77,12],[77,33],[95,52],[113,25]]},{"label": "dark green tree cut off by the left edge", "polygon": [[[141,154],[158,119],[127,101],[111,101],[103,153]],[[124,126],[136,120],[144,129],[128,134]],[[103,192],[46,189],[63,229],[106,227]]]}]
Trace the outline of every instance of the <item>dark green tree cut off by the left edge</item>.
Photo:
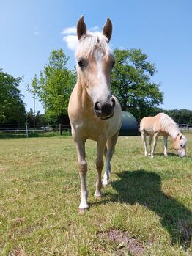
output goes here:
[{"label": "dark green tree cut off by the left edge", "polygon": [[22,78],[14,78],[0,69],[0,122],[18,124],[25,122],[25,104],[18,89]]}]

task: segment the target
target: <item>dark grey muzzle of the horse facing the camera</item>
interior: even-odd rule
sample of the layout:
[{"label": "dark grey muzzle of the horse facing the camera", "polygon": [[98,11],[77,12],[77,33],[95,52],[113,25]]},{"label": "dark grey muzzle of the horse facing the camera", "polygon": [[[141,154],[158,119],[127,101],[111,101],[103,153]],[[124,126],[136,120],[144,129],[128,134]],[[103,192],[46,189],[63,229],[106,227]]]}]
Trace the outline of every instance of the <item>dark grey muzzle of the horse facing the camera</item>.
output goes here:
[{"label": "dark grey muzzle of the horse facing the camera", "polygon": [[109,98],[104,104],[97,101],[94,105],[94,111],[97,117],[106,120],[114,115],[115,100],[113,97]]}]

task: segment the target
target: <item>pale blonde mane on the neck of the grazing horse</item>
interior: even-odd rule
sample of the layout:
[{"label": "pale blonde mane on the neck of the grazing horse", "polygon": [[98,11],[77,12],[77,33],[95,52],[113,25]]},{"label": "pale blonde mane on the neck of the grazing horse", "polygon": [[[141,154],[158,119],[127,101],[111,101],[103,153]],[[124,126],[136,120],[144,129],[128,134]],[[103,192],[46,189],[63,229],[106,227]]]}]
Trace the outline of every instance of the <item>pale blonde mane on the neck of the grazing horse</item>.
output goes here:
[{"label": "pale blonde mane on the neck of the grazing horse", "polygon": [[176,139],[177,135],[180,134],[176,122],[165,113],[160,113],[160,125],[173,139]]}]

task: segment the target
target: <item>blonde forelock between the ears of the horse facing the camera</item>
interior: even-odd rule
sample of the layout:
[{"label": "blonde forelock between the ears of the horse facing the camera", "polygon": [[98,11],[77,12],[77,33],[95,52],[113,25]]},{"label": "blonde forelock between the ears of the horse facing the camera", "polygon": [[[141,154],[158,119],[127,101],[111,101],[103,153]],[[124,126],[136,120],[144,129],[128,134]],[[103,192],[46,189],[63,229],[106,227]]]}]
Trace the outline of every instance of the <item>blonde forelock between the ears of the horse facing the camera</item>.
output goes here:
[{"label": "blonde forelock between the ears of the horse facing the camera", "polygon": [[81,56],[87,58],[89,55],[93,54],[96,47],[103,50],[106,58],[111,54],[107,37],[101,33],[95,32],[86,34],[81,38],[81,40],[78,41],[75,56],[76,58]]}]

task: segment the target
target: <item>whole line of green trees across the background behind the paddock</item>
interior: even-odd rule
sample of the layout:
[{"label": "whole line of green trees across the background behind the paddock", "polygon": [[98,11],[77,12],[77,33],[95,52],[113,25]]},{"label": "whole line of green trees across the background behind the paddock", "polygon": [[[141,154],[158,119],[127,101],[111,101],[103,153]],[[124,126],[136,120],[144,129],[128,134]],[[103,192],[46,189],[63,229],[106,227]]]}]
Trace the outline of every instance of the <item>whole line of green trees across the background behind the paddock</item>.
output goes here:
[{"label": "whole line of green trees across the background behind the paddock", "polygon": [[[160,109],[163,92],[160,84],[152,81],[155,65],[140,49],[113,51],[115,65],[111,74],[111,90],[117,96],[123,111],[129,111],[140,122],[142,117],[165,112],[177,123],[192,124],[192,111],[188,109]],[[69,125],[67,106],[75,85],[76,73],[67,68],[69,58],[62,49],[53,50],[48,63],[34,75],[26,89],[34,99],[43,103],[45,114],[26,112],[23,95],[18,89],[23,77],[14,78],[0,69],[0,123],[29,125]],[[34,122],[35,121],[35,122]]]}]

